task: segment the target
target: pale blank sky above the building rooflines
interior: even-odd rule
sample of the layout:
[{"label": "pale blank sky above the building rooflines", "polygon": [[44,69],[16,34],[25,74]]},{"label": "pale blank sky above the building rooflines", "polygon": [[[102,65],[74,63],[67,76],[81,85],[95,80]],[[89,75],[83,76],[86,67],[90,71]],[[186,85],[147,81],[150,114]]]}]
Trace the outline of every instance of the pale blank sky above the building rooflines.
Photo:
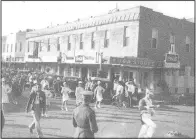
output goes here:
[{"label": "pale blank sky above the building rooflines", "polygon": [[2,1],[2,35],[42,29],[136,6],[176,18],[194,18],[194,1]]}]

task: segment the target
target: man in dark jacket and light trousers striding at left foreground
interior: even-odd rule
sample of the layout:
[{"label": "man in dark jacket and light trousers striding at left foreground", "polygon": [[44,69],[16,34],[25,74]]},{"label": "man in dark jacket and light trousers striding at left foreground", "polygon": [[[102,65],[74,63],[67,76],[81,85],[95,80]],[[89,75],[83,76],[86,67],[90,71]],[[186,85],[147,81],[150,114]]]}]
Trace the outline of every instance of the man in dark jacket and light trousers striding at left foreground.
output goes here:
[{"label": "man in dark jacket and light trousers striding at left foreground", "polygon": [[27,103],[26,112],[32,111],[33,122],[29,126],[30,133],[33,133],[33,129],[36,128],[38,137],[42,137],[42,131],[40,128],[41,113],[45,113],[46,108],[46,96],[43,91],[41,91],[41,84],[36,85],[36,91],[30,94],[29,101]]}]

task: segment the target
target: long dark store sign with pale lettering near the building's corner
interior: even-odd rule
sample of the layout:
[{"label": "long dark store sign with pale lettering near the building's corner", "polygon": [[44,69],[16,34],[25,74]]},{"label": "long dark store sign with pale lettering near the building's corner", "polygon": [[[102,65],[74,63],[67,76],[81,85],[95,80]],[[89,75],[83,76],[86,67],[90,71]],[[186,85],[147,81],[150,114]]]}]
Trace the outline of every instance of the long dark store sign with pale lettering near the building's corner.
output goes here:
[{"label": "long dark store sign with pale lettering near the building's corner", "polygon": [[154,67],[155,62],[148,59],[110,57],[110,64]]}]

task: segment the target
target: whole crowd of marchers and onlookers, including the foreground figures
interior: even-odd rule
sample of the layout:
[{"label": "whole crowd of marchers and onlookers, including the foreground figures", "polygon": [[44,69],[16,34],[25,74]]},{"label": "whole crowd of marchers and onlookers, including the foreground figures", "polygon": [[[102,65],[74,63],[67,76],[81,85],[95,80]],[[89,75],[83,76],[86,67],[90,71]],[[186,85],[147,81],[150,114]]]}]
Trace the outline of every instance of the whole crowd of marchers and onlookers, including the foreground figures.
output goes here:
[{"label": "whole crowd of marchers and onlookers, including the foreground figures", "polygon": [[[50,83],[43,73],[20,73],[13,69],[4,69],[2,77],[3,105],[9,103],[10,98],[8,94],[14,94],[12,95],[14,97],[11,98],[13,98],[14,102],[17,102],[14,98],[20,96],[26,86],[31,90],[26,112],[32,111],[34,118],[29,125],[29,130],[33,133],[33,129],[36,129],[37,135],[40,137],[43,136],[40,128],[40,119],[42,115],[48,116],[47,108],[50,106],[50,98],[60,95],[62,97],[61,109],[68,111],[67,102],[72,90],[63,78],[57,77]],[[53,86],[54,94],[49,90],[50,86]],[[127,82],[114,80],[110,84],[89,78],[85,82],[82,80],[78,81],[74,91],[76,109],[73,114],[73,126],[77,128],[75,137],[94,137],[94,133],[98,131],[98,126],[95,112],[90,108],[89,104],[94,100],[94,108],[101,108],[104,98],[111,99],[113,103],[116,102],[119,106],[132,107],[133,105],[139,105],[142,121],[139,137],[152,137],[156,124],[151,120],[151,116],[154,114],[154,108],[158,106],[152,105],[150,99],[152,92],[148,88],[145,90],[141,89],[139,85],[134,83],[134,80]],[[145,94],[145,97],[141,94]],[[86,121],[89,122],[86,123]]]}]

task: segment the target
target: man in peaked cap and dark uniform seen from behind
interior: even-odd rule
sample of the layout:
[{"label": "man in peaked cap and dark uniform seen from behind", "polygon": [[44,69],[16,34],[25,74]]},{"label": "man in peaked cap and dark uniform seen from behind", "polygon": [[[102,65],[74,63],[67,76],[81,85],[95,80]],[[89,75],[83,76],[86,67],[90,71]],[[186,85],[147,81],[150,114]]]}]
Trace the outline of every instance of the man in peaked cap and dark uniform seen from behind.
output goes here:
[{"label": "man in peaked cap and dark uniform seen from behind", "polygon": [[76,128],[74,138],[94,138],[98,131],[95,112],[89,106],[93,92],[83,91],[82,104],[73,111],[73,126]]}]

